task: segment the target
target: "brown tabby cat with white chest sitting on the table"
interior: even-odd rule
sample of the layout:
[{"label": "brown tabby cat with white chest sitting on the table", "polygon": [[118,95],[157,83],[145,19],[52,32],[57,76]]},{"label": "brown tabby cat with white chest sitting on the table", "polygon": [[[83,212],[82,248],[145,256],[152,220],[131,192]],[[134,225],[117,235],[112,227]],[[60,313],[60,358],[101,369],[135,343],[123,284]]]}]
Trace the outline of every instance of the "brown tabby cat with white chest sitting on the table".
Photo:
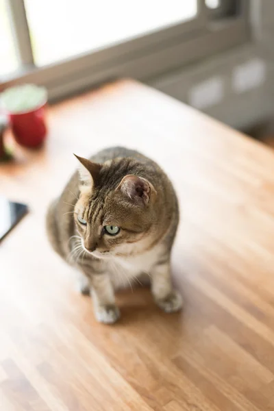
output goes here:
[{"label": "brown tabby cat with white chest sitting on the table", "polygon": [[53,249],[82,273],[95,318],[119,319],[114,290],[147,275],[155,303],[182,307],[171,282],[171,248],[179,221],[175,190],[160,166],[134,150],[111,147],[80,168],[47,212]]}]

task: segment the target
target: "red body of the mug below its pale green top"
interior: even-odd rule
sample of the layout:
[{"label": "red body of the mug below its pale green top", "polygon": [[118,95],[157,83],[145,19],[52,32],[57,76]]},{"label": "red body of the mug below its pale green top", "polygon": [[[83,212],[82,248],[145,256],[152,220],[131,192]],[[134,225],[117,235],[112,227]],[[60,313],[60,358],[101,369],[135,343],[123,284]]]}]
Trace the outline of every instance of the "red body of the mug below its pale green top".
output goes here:
[{"label": "red body of the mug below its pale green top", "polygon": [[47,135],[46,102],[27,112],[9,113],[14,138],[24,147],[39,147]]}]

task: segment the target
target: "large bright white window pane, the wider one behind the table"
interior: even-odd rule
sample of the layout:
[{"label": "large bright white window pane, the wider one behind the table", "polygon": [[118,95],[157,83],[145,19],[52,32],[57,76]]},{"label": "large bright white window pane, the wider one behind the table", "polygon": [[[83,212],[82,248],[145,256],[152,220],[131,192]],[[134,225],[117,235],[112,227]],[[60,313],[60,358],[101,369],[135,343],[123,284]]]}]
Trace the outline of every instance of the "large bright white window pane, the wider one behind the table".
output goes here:
[{"label": "large bright white window pane, the wider one behind the table", "polygon": [[107,47],[197,14],[197,0],[25,0],[25,6],[38,65]]}]

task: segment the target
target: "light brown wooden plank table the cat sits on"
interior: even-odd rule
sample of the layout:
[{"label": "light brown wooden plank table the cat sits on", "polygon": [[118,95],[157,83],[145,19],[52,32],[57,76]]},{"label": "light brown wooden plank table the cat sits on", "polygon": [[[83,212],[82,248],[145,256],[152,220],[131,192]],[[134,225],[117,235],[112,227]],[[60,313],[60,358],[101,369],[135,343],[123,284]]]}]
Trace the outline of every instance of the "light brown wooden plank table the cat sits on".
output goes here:
[{"label": "light brown wooden plank table the cat sits on", "polygon": [[[72,153],[109,145],[151,156],[177,188],[182,313],[129,290],[121,321],[97,324],[47,243]],[[274,410],[273,151],[122,81],[54,105],[47,147],[1,165],[0,192],[32,209],[0,246],[1,410]]]}]

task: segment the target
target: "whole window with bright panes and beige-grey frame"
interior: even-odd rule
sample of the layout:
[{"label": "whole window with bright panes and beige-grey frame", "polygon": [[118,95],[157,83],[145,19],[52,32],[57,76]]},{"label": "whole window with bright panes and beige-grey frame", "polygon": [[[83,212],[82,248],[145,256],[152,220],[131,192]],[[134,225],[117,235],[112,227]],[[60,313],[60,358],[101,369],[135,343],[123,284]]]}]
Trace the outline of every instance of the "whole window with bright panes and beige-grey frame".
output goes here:
[{"label": "whole window with bright panes and beige-grey frame", "polygon": [[0,90],[153,78],[246,41],[247,17],[247,0],[0,0]]}]

